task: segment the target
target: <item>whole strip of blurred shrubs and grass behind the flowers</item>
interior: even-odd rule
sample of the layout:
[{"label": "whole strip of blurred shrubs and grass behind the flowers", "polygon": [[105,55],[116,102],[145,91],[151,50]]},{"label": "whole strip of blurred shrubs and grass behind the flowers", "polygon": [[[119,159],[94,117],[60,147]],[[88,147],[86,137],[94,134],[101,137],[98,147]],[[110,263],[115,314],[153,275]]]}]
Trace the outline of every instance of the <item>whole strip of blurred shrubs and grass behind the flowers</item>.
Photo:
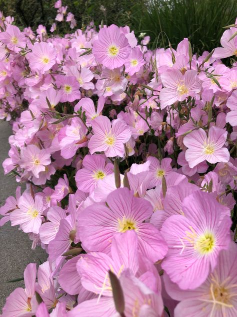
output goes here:
[{"label": "whole strip of blurred shrubs and grass behind the flowers", "polygon": [[[0,0],[0,10],[21,28],[35,30],[42,24],[49,30],[56,16],[54,2]],[[193,52],[200,54],[219,46],[222,27],[233,24],[237,16],[237,0],[62,0],[62,5],[74,14],[79,28],[91,20],[96,26],[101,20],[128,25],[136,36],[150,36],[150,48],[168,47],[168,39],[175,48],[186,37]]]}]

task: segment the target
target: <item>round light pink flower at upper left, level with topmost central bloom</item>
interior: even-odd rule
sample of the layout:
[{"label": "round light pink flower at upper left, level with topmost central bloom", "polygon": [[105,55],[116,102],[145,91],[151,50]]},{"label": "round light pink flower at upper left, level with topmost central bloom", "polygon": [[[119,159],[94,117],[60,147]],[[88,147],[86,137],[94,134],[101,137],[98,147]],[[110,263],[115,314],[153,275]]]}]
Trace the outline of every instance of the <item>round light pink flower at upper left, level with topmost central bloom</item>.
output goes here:
[{"label": "round light pink flower at upper left, level with topmost central bloom", "polygon": [[53,47],[45,42],[34,44],[32,52],[27,54],[31,70],[45,73],[55,64],[56,52]]}]

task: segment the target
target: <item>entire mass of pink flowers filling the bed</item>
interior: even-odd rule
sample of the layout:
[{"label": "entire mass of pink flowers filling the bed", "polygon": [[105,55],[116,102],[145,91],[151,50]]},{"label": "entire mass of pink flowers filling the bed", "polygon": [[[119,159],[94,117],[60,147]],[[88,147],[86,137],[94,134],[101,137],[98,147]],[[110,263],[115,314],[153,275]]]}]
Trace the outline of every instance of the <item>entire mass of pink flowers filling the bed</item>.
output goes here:
[{"label": "entire mass of pink flowers filling the bed", "polygon": [[237,21],[202,56],[187,39],[149,50],[127,26],[59,37],[12,22],[0,20],[3,168],[26,190],[0,225],[48,259],[27,265],[2,317],[236,316],[237,64],[221,59],[237,56]]}]

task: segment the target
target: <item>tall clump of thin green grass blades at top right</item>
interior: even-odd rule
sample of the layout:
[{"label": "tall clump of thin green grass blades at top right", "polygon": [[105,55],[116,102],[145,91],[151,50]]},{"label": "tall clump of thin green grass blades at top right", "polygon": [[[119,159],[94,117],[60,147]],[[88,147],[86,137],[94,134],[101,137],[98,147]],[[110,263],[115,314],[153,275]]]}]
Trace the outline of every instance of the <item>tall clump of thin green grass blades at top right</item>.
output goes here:
[{"label": "tall clump of thin green grass blades at top right", "polygon": [[[176,48],[188,38],[194,53],[219,46],[222,27],[233,24],[236,0],[144,0],[132,8],[130,25],[136,35],[145,32],[151,48]],[[161,32],[162,31],[162,32]]]}]

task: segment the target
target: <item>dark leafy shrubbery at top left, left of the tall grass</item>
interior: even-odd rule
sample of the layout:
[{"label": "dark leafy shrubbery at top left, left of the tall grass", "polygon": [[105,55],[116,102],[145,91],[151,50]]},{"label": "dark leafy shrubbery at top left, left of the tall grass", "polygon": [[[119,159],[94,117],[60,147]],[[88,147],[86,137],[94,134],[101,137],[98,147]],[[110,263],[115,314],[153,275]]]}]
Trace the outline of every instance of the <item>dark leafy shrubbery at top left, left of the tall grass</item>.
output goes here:
[{"label": "dark leafy shrubbery at top left, left of the tall grass", "polygon": [[[25,28],[30,26],[36,30],[39,24],[47,30],[56,17],[54,0],[0,0],[0,10],[5,16],[14,17],[15,25]],[[62,0],[67,12],[74,14],[77,27],[87,26],[91,20],[98,26],[103,20],[106,25],[123,26],[129,21],[130,10],[137,0]],[[69,30],[68,30],[69,31]]]}]

